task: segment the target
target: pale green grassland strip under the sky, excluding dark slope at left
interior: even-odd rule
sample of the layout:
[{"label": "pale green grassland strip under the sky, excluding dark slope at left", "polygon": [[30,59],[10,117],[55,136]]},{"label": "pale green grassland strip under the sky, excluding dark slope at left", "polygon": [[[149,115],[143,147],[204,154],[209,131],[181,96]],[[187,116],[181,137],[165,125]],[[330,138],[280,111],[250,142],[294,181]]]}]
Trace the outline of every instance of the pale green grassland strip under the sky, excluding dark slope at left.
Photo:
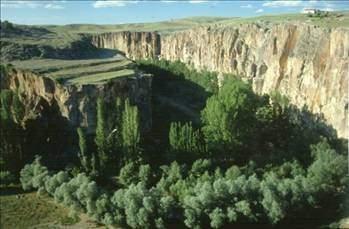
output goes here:
[{"label": "pale green grassland strip under the sky, excluding dark slope at left", "polygon": [[118,25],[94,25],[94,24],[70,24],[70,25],[42,25],[42,26],[23,26],[20,28],[31,30],[30,35],[18,34],[10,37],[2,37],[3,41],[10,41],[23,44],[41,44],[52,47],[67,47],[72,42],[80,40],[81,34],[95,34],[105,32],[120,31],[158,31],[166,34],[174,31],[190,29],[196,26],[209,24],[234,25],[241,23],[251,23],[268,21],[270,23],[280,22],[304,22],[318,26],[326,27],[349,27],[349,12],[333,12],[329,17],[310,18],[305,14],[282,14],[282,15],[264,15],[250,18],[232,17],[191,17],[154,23],[133,23]]}]

